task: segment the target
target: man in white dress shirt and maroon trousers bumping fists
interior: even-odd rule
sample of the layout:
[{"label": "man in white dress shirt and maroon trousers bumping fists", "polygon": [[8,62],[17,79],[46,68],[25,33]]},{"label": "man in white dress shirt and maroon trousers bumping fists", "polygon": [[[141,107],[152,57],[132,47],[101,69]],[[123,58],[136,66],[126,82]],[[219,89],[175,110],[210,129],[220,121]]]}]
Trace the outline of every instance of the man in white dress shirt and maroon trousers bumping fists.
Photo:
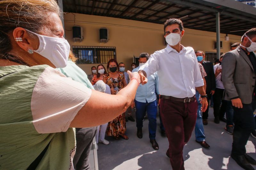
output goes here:
[{"label": "man in white dress shirt and maroon trousers bumping fists", "polygon": [[147,76],[158,71],[160,114],[169,141],[166,155],[173,170],[184,170],[183,147],[196,123],[196,90],[202,97],[202,110],[205,111],[208,105],[196,54],[193,48],[180,44],[183,35],[180,19],[166,20],[164,37],[167,47],[152,54],[139,70],[142,84],[147,83]]}]

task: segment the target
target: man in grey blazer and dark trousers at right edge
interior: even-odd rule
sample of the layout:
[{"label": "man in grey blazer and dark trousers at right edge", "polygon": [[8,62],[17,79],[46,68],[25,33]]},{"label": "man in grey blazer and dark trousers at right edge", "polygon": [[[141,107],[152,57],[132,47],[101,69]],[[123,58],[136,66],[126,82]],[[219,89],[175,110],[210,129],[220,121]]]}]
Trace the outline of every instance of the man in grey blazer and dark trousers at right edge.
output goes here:
[{"label": "man in grey blazer and dark trousers at right edge", "polygon": [[253,109],[256,92],[256,28],[247,31],[240,47],[226,53],[222,60],[222,82],[225,87],[224,100],[231,100],[234,109],[235,127],[231,157],[244,169],[256,161],[246,154],[245,145],[255,128]]}]

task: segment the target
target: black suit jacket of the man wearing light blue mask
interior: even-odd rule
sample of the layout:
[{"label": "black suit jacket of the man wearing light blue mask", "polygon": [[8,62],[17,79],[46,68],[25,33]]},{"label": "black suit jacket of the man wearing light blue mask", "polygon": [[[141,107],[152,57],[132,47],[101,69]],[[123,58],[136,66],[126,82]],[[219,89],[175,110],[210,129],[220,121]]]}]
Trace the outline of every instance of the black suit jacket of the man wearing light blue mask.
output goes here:
[{"label": "black suit jacket of the man wearing light blue mask", "polygon": [[207,74],[207,76],[204,77],[206,82],[206,94],[210,94],[211,90],[215,90],[216,88],[213,64],[209,61],[203,61],[202,65]]}]

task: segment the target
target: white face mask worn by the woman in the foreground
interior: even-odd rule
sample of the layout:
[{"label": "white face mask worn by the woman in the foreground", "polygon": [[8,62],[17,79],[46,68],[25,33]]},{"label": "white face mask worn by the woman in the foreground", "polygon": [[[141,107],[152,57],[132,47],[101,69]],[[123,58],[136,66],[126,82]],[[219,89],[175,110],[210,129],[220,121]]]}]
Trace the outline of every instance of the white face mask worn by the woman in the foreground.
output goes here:
[{"label": "white face mask worn by the woman in the foreground", "polygon": [[67,66],[70,51],[70,45],[67,40],[64,38],[39,35],[29,30],[27,31],[37,35],[39,39],[39,47],[37,50],[34,50],[34,52],[50,60],[56,68],[64,68]]}]

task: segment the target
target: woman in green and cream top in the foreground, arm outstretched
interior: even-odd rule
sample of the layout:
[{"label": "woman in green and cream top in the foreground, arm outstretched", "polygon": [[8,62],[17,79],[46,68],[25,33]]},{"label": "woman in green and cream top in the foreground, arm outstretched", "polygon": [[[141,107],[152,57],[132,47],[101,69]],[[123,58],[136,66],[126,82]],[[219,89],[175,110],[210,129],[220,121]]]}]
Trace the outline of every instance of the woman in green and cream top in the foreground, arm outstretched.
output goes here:
[{"label": "woman in green and cream top in the foreground, arm outstretched", "polygon": [[0,16],[1,169],[73,169],[73,128],[124,113],[139,74],[129,72],[129,85],[109,95],[55,70],[70,49],[55,0],[2,0]]}]

